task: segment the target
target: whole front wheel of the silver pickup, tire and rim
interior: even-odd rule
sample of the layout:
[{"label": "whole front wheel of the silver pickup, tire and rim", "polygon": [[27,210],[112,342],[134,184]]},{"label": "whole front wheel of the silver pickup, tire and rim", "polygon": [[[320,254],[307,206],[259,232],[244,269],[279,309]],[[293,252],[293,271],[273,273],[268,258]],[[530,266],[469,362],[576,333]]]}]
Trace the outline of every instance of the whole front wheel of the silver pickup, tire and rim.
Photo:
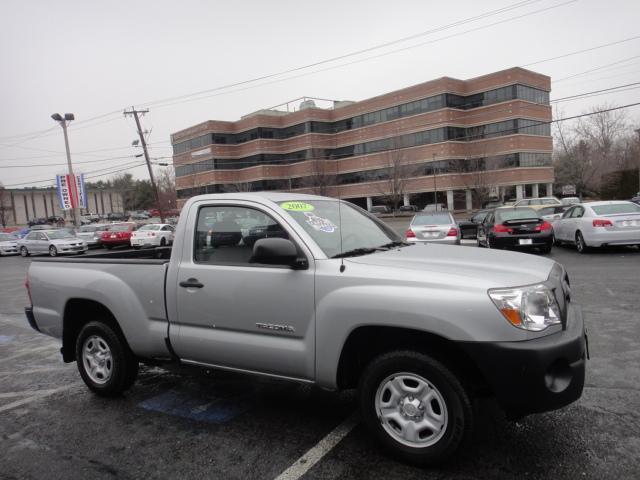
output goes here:
[{"label": "whole front wheel of the silver pickup, tire and rim", "polygon": [[442,462],[472,430],[471,402],[462,384],[422,353],[379,356],[365,369],[358,391],[364,424],[403,461]]}]

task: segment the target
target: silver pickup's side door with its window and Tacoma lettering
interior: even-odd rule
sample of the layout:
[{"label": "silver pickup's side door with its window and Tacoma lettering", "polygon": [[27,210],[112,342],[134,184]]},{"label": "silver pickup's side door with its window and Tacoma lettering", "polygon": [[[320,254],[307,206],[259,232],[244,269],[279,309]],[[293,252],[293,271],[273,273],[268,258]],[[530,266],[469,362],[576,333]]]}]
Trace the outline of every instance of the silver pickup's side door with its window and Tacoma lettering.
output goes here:
[{"label": "silver pickup's side door with its window and Tacoma lettering", "polygon": [[[315,264],[276,212],[250,202],[190,209],[177,274],[178,356],[200,364],[312,380]],[[252,263],[261,238],[288,238],[309,268]],[[173,327],[172,327],[173,328]]]}]

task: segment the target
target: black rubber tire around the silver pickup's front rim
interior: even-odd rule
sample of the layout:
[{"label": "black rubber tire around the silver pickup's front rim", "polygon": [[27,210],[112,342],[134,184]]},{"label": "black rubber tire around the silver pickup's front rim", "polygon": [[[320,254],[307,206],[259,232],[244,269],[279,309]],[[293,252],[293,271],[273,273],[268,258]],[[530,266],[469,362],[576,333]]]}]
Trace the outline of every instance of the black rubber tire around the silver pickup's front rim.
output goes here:
[{"label": "black rubber tire around the silver pickup's front rim", "polygon": [[[443,432],[432,432],[437,441],[427,446],[401,443],[383,426],[378,415],[376,398],[383,384],[395,374],[408,373],[426,380],[435,388],[446,407],[447,421]],[[456,376],[439,361],[414,351],[394,351],[375,358],[364,370],[358,386],[362,420],[374,437],[402,461],[417,465],[435,464],[451,457],[473,429],[473,410],[469,396]],[[384,390],[380,398],[385,395]],[[408,397],[411,401],[412,399]],[[403,400],[404,401],[404,400]],[[421,402],[419,402],[421,404]],[[395,408],[395,407],[393,407]],[[398,408],[401,407],[398,404]],[[420,407],[418,407],[420,408]],[[424,409],[425,407],[422,407]],[[445,411],[443,409],[443,411]],[[424,415],[424,414],[422,414]],[[399,426],[399,424],[397,424]],[[427,429],[428,430],[428,429]],[[400,435],[400,434],[398,434]],[[418,434],[418,436],[420,436]],[[438,437],[439,436],[439,437]],[[421,442],[422,439],[419,440]]]}]

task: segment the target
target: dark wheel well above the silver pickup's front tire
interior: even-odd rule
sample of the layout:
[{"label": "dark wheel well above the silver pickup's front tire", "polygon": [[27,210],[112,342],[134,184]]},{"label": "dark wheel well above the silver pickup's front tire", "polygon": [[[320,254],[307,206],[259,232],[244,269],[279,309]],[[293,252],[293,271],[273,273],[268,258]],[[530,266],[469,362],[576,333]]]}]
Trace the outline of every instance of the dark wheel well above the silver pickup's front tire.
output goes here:
[{"label": "dark wheel well above the silver pickup's front tire", "polygon": [[355,329],[344,344],[338,364],[338,387],[354,388],[367,364],[393,350],[413,350],[440,361],[476,395],[490,394],[475,362],[457,344],[439,335],[411,328],[366,326]]}]

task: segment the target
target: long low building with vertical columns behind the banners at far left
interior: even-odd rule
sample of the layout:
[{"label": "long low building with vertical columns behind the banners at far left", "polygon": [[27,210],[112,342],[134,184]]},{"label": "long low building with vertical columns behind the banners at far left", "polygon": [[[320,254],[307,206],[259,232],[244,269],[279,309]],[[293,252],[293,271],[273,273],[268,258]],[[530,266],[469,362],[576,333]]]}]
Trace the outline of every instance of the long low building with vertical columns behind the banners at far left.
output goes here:
[{"label": "long low building with vertical columns behind the banners at far left", "polygon": [[[36,218],[58,216],[71,221],[70,211],[60,209],[56,189],[49,188],[7,188],[0,190],[0,208],[8,225],[26,225]],[[112,189],[87,189],[89,208],[85,213],[105,214],[123,212],[122,194]]]}]

